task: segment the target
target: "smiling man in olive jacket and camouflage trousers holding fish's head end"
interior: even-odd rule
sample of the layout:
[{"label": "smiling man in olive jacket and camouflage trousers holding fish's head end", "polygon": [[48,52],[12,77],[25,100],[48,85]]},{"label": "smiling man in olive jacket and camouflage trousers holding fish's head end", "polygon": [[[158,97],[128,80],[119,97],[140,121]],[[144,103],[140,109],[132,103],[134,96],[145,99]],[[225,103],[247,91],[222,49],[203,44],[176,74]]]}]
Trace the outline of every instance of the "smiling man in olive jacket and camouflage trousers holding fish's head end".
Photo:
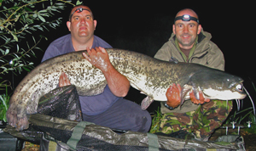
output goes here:
[{"label": "smiling man in olive jacket and camouflage trousers holding fish's head end", "polygon": [[[211,42],[211,34],[203,31],[197,14],[192,9],[179,11],[172,26],[172,36],[154,58],[169,61],[172,57],[179,62],[202,64],[224,70],[224,55],[218,46]],[[166,92],[168,101],[161,103],[162,118],[152,126],[151,131],[165,133],[176,131],[192,132],[195,139],[207,141],[212,132],[222,125],[232,109],[232,101],[195,99],[185,101],[181,108],[182,87],[173,84]]]}]

